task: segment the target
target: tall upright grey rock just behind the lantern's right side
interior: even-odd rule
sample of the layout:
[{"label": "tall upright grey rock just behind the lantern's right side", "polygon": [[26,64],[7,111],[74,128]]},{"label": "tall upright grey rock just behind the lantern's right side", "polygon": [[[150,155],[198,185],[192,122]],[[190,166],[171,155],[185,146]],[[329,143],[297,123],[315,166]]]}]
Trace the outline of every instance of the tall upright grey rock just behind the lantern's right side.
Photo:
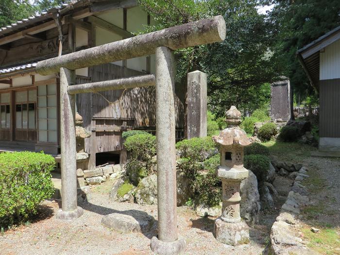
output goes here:
[{"label": "tall upright grey rock just behind the lantern's right side", "polygon": [[241,182],[240,186],[240,214],[248,224],[258,222],[260,212],[260,195],[257,188],[257,179],[255,174],[249,170],[248,178]]}]

